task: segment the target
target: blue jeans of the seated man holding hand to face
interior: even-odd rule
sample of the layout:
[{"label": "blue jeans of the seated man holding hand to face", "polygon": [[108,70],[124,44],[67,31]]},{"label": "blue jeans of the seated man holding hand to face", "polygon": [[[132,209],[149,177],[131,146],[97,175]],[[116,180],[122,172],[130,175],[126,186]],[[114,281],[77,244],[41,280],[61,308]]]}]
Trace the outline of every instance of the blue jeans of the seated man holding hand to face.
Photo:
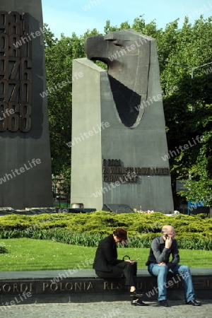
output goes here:
[{"label": "blue jeans of the seated man holding hand to face", "polygon": [[[158,301],[166,300],[168,285],[174,285],[174,283],[179,281],[183,283],[185,301],[189,302],[195,299],[192,274],[189,266],[178,264],[174,268],[168,269],[165,265],[150,264],[148,265],[148,272],[151,275],[158,276]],[[173,277],[167,282],[167,273],[179,274],[179,276]]]}]

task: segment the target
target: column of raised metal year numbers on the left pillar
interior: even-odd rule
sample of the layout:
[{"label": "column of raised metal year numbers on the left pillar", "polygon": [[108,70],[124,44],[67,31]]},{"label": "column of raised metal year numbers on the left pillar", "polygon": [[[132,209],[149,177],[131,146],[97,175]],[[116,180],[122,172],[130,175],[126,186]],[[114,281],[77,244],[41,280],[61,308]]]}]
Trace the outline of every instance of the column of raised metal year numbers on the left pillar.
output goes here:
[{"label": "column of raised metal year numbers on the left pillar", "polygon": [[29,30],[28,14],[0,11],[0,131],[31,129],[31,42],[20,44]]}]

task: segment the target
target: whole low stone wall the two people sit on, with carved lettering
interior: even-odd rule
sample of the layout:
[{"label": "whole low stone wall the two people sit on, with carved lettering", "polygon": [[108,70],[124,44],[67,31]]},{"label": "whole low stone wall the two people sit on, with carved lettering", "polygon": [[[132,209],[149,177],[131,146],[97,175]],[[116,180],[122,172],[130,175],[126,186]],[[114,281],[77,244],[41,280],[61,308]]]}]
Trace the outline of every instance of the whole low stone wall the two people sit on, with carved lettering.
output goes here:
[{"label": "whole low stone wall the two people sit on, with carved lettering", "polygon": [[[195,296],[212,299],[212,269],[192,268]],[[158,298],[157,280],[146,269],[139,269],[137,288],[143,290],[142,300]],[[180,276],[167,278],[167,298],[182,300],[184,290]],[[0,306],[44,302],[100,302],[129,300],[124,279],[104,280],[93,270],[66,269],[57,271],[0,272]]]}]

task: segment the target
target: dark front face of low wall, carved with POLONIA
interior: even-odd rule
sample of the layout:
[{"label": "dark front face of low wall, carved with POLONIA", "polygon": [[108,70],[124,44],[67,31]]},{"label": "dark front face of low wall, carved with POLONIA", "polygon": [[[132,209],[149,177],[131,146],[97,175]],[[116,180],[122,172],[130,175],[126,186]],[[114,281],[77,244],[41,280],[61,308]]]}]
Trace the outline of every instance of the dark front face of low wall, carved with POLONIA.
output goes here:
[{"label": "dark front face of low wall, carved with POLONIA", "polygon": [[[211,276],[192,276],[195,290],[211,290]],[[59,278],[58,278],[59,279]],[[167,278],[168,290],[183,290],[182,280],[177,276]],[[152,276],[136,276],[137,288],[148,293],[157,290],[157,279]],[[0,281],[2,295],[18,293],[56,294],[56,293],[110,293],[112,290],[128,293],[124,279],[104,280],[101,278],[55,278],[12,279]]]}]

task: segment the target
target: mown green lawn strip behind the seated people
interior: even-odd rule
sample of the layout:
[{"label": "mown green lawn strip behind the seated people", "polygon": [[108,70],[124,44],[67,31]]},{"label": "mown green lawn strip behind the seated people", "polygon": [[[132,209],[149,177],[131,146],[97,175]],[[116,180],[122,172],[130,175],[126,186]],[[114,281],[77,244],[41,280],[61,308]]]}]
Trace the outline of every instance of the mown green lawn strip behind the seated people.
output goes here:
[{"label": "mown green lawn strip behind the seated people", "polygon": [[[40,271],[48,269],[92,269],[95,247],[66,245],[47,240],[28,238],[1,240],[8,253],[0,254],[1,271]],[[149,249],[118,249],[119,259],[129,255],[131,259],[141,257],[138,268],[146,268]],[[190,267],[211,267],[212,251],[182,249],[180,263]],[[86,261],[87,259],[87,261]]]}]

